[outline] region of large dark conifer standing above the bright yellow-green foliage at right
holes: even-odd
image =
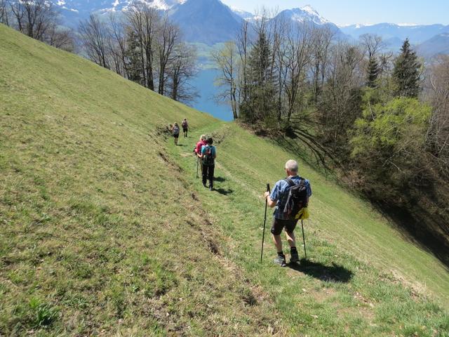
[[[393,71],[398,96],[417,97],[420,93],[420,67],[421,63],[416,52],[410,48],[410,42],[406,39],[401,48],[401,55],[396,59]]]

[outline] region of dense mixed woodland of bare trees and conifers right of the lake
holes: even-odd
[[[394,55],[375,35],[354,44],[260,16],[213,54],[217,98],[382,209],[413,215],[407,229],[449,264],[449,57],[426,69],[408,39]]]

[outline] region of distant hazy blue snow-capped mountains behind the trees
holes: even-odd
[[[231,8],[220,0],[140,0],[148,6],[166,11],[180,26],[186,41],[213,45],[234,39],[243,20],[253,22],[253,13]],[[132,0],[57,0],[63,23],[76,27],[89,13],[126,11]],[[427,58],[438,53],[449,53],[449,25],[376,25],[340,26],[323,18],[311,6],[281,11],[278,17],[291,22],[310,22],[316,27],[329,27],[338,39],[357,40],[363,34],[377,34],[389,50],[398,51],[408,38],[419,53]]]

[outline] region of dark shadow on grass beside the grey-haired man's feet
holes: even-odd
[[[351,270],[335,263],[329,266],[302,259],[299,265],[290,263],[288,267],[326,282],[347,283],[352,278]]]

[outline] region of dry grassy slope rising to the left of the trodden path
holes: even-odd
[[[0,336],[273,324],[166,154],[163,126],[212,119],[2,25],[0,46]]]

